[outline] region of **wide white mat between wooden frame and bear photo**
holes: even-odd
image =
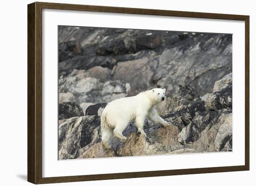
[[[43,177],[244,165],[244,115],[240,115],[244,113],[244,21],[50,9],[43,10],[42,15]],[[58,25],[232,33],[233,152],[58,161],[58,128],[54,125],[58,123]]]

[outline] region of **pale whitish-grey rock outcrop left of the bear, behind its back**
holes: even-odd
[[[102,68],[102,67],[101,67]],[[70,92],[75,103],[109,103],[117,98],[128,96],[133,90],[130,83],[110,80],[102,83],[99,79],[88,77],[87,71],[73,70],[60,74],[59,92]]]

